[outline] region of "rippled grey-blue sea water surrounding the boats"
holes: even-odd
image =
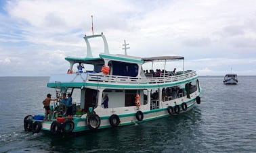
[[[201,104],[187,113],[69,135],[24,131],[44,113],[47,77],[0,77],[0,152],[256,152],[256,76],[199,77]]]

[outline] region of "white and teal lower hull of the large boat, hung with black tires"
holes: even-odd
[[[200,98],[194,98],[188,102],[175,106],[167,106],[164,109],[154,109],[150,111],[142,111],[137,109],[136,113],[129,114],[112,114],[110,116],[99,117],[95,113],[89,113],[82,117],[73,117],[70,119],[60,118],[55,121],[42,121],[35,119],[24,119],[25,131],[33,131],[37,133],[41,130],[51,131],[52,133],[70,133],[78,131],[86,131],[90,129],[103,129],[108,127],[119,127],[124,125],[132,125],[144,121],[150,121],[171,115],[177,115],[189,111],[194,105],[200,103]]]

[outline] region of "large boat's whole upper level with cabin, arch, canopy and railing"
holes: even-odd
[[[89,38],[102,37],[104,41],[104,53],[100,53],[98,57],[92,57],[91,45]],[[87,57],[66,57],[65,59],[70,63],[68,73],[60,75],[52,75],[49,79],[48,87],[56,88],[59,86],[56,82],[60,82],[62,86],[82,88],[83,86],[110,86],[117,84],[120,88],[126,88],[126,86],[137,86],[140,88],[143,86],[158,86],[161,84],[177,84],[180,82],[186,82],[191,79],[197,78],[196,71],[188,70],[180,73],[171,73],[166,71],[165,66],[167,61],[183,60],[184,57],[177,56],[163,56],[163,57],[133,57],[129,55],[112,55],[108,51],[108,44],[103,34],[85,36],[85,42],[87,44]],[[164,62],[164,71],[161,74],[153,72],[146,72],[143,70],[142,65],[144,63],[152,62]],[[93,66],[92,71],[74,71],[76,69],[75,64],[89,64]],[[102,71],[103,67],[108,67],[107,73]],[[83,67],[84,68],[84,67]],[[85,67],[86,68],[86,67]],[[103,73],[102,73],[103,72]]]

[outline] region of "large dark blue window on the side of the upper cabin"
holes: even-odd
[[[112,61],[112,74],[121,76],[136,77],[138,73],[138,65],[135,63],[124,63],[121,61]]]

